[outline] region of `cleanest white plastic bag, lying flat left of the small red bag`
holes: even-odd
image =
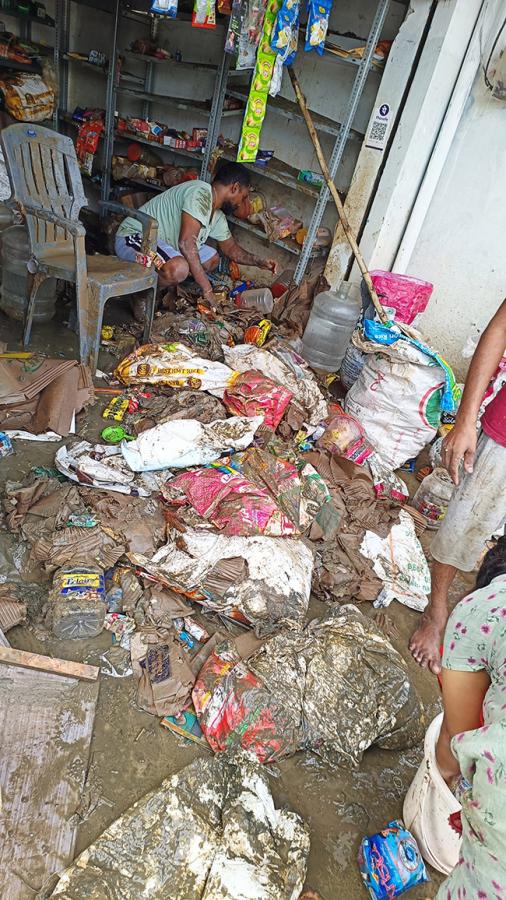
[[[121,453],[133,472],[206,465],[227,451],[249,447],[262,423],[262,416],[235,416],[210,425],[178,419],[143,431],[135,441],[122,441]]]

